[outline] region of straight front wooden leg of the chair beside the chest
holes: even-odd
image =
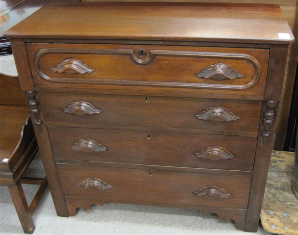
[[[32,234],[35,230],[35,225],[21,183],[9,185],[8,188],[24,232]]]

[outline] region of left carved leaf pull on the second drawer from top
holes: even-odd
[[[62,111],[67,113],[77,114],[77,115],[103,112],[102,110],[99,110],[97,107],[95,107],[93,104],[90,104],[88,102],[81,101],[81,100],[74,101],[68,104],[64,109],[62,109]]]

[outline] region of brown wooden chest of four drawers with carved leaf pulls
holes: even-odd
[[[278,6],[46,6],[6,32],[59,216],[130,203],[256,231],[293,35]]]

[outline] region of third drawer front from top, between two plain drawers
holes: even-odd
[[[48,127],[56,159],[252,170],[255,137]]]

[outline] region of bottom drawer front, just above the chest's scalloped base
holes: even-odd
[[[251,177],[57,164],[64,196],[246,209]]]

